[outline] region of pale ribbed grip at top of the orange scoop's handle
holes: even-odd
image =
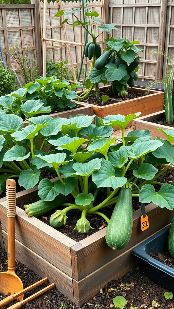
[[[16,215],[16,182],[13,179],[6,181],[7,217]]]

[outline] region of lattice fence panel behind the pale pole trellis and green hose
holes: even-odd
[[[82,15],[82,5],[80,1],[70,1],[70,2],[62,2],[63,9],[66,11],[72,11],[73,8],[79,8],[80,12],[76,13],[77,18],[80,20],[83,20]],[[54,17],[55,14],[60,10],[60,6],[58,2],[47,2],[47,10],[46,10],[46,38],[48,39],[57,39],[57,40],[65,40],[65,34],[63,25],[61,25],[62,18]],[[42,19],[42,26],[43,26],[43,9],[44,4],[43,2],[40,3],[41,6],[41,19]],[[97,11],[99,13],[99,18],[104,19],[103,16],[103,4],[102,1],[90,1],[89,7],[91,11]],[[68,23],[73,23],[76,21],[76,18],[69,14],[65,15],[64,18],[68,18]],[[88,19],[87,19],[88,21]],[[94,27],[94,25],[92,25]],[[84,43],[85,41],[85,33],[84,28],[82,26],[77,26],[75,28],[72,28],[72,26],[69,26],[66,24],[66,31],[68,36],[69,42],[77,42],[77,43]],[[101,31],[96,27],[96,35],[99,35]],[[92,40],[90,36],[88,36],[88,41]],[[101,44],[101,48],[104,48],[103,43],[103,35],[99,35],[97,38],[97,41],[99,44]],[[49,49],[48,49],[49,47]],[[50,48],[52,49],[52,53],[50,51]],[[60,49],[60,50],[59,50]],[[76,72],[79,71],[80,65],[81,65],[81,55],[83,53],[83,47],[78,45],[70,45],[71,50],[71,57],[73,61],[73,65],[75,66]],[[48,56],[49,53],[49,56]],[[58,42],[46,42],[46,59],[51,59],[53,57],[54,63],[59,63],[62,60],[68,60],[69,65],[71,65],[70,62],[70,56],[67,52],[67,47],[64,43],[58,43]],[[84,59],[84,65],[86,63],[86,59]],[[89,62],[89,69],[90,69],[90,63],[91,61],[87,60]]]

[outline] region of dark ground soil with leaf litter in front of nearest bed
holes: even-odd
[[[1,248],[0,256],[0,269],[4,272],[7,270],[7,254]],[[38,275],[33,273],[32,270],[18,261],[16,261],[15,273],[21,278],[24,288],[41,279]],[[40,287],[26,293],[24,299],[36,291],[41,290],[46,285],[48,284],[44,283]],[[130,270],[122,278],[108,282],[95,297],[86,301],[82,307],[74,305],[70,299],[61,294],[56,288],[53,288],[25,304],[22,308],[59,309],[61,303],[63,303],[64,307],[61,308],[67,309],[109,309],[115,308],[113,305],[113,298],[122,296],[127,301],[125,307],[127,309],[153,309],[153,301],[156,307],[159,305],[160,309],[173,309],[174,299],[165,299],[163,295],[165,292],[167,292],[167,289],[148,279],[144,265],[139,265],[137,268]],[[2,297],[4,297],[4,295],[0,294],[0,299],[2,299]],[[4,306],[3,309],[8,308],[15,302],[17,302],[17,300]]]

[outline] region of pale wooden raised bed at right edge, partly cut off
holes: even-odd
[[[152,113],[146,116],[141,116],[137,119],[133,119],[132,121],[132,128],[133,130],[146,130],[148,129],[151,133],[152,139],[155,139],[157,136],[159,138],[163,138],[167,140],[167,137],[159,130],[156,128],[161,128],[163,130],[172,130],[174,131],[174,127],[169,127],[167,125],[159,125],[158,123],[153,123],[151,120],[157,120],[160,119],[165,115],[165,111],[160,111],[156,113]]]

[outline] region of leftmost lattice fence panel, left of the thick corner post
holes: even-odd
[[[17,69],[18,64],[14,57],[6,55],[6,49],[17,46],[19,52],[24,54],[26,47],[32,47],[29,55],[30,61],[36,58],[33,10],[34,5],[16,4],[10,9],[8,5],[0,5],[0,40],[8,67],[12,64]],[[37,66],[37,60],[35,61],[35,66]]]

